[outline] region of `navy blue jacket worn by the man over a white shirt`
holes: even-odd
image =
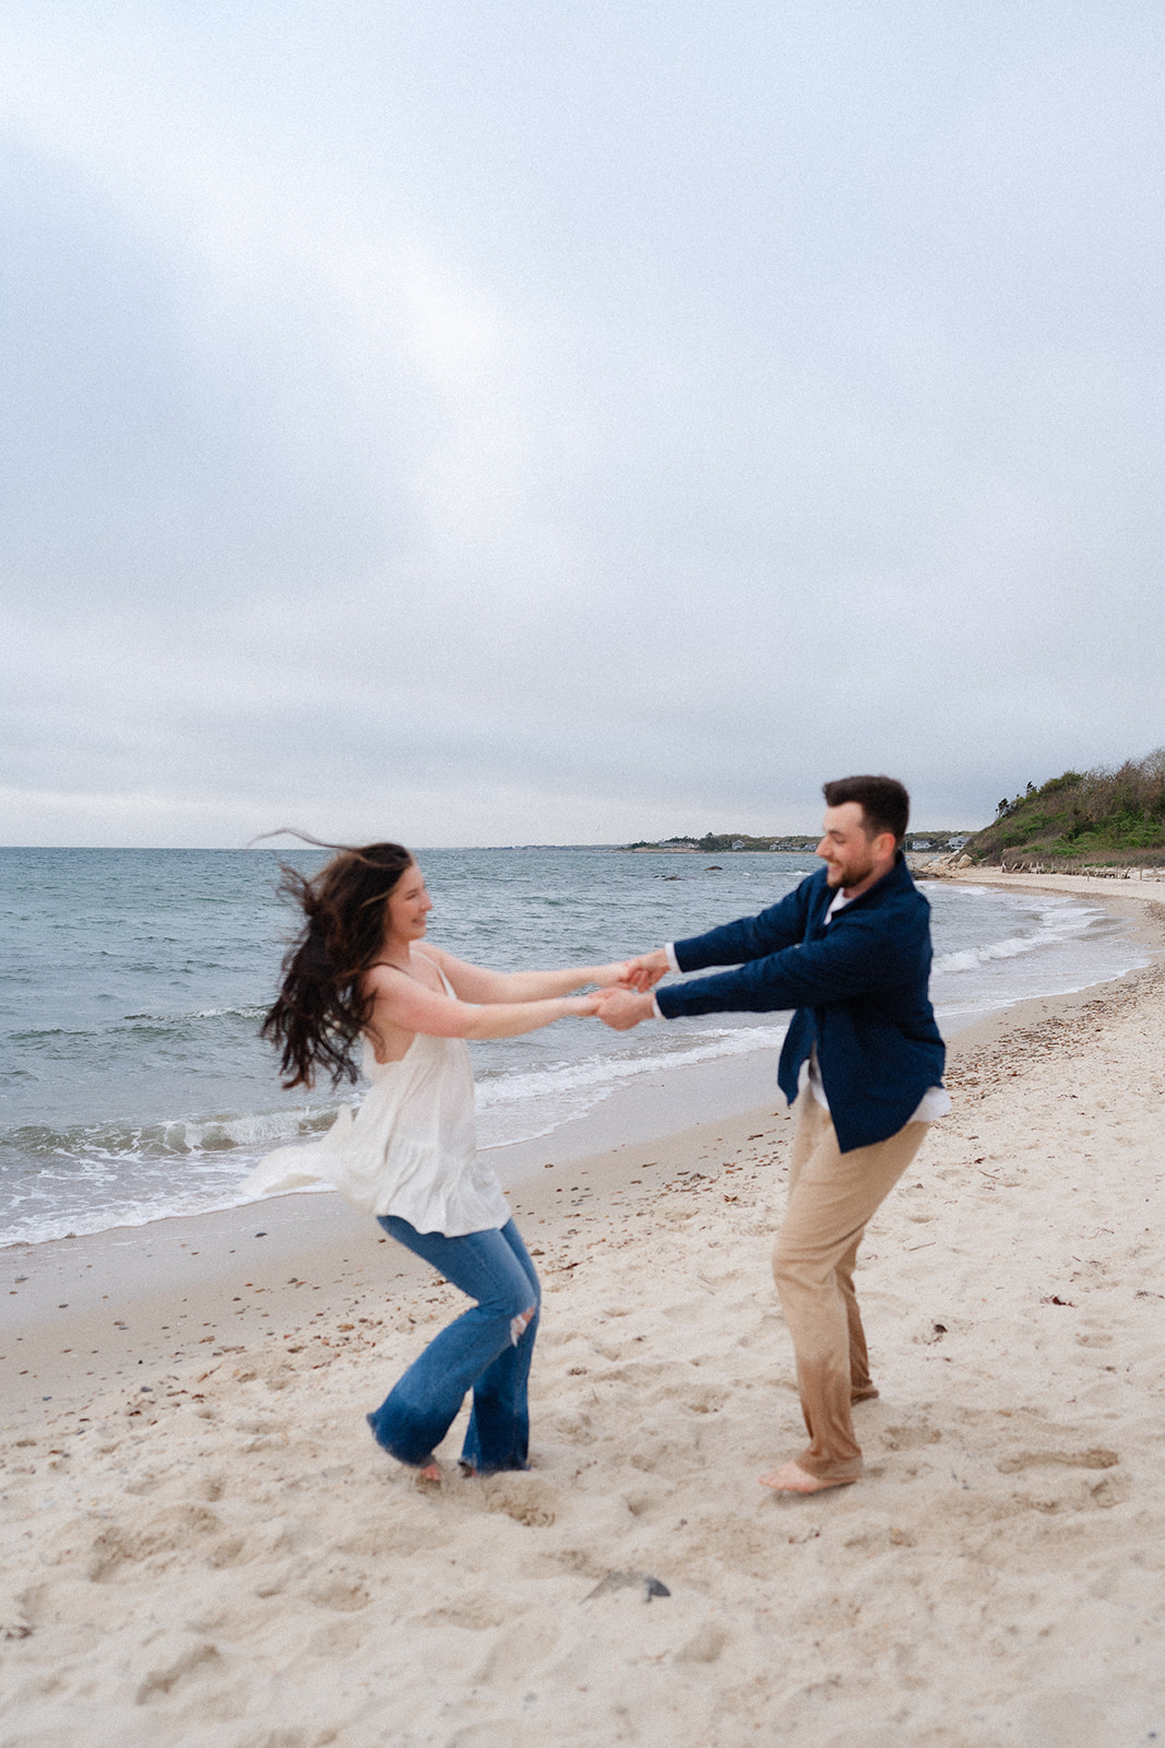
[[[791,1105],[816,1044],[837,1141],[849,1154],[910,1122],[927,1087],[941,1086],[947,1051],[927,995],[931,907],[901,851],[889,874],[826,925],[835,895],[821,867],[760,916],[678,940],[683,972],[739,970],[669,984],[655,998],[667,1019],[796,1009],[781,1091]]]

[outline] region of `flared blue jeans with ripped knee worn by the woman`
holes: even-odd
[[[381,1407],[369,1414],[379,1446],[400,1463],[423,1468],[445,1437],[473,1390],[473,1412],[461,1461],[475,1474],[526,1468],[529,1411],[526,1386],[538,1334],[540,1290],[514,1220],[501,1231],[417,1232],[396,1215],[381,1225],[398,1245],[431,1262],[468,1299],[470,1311],[437,1335],[393,1384]],[[526,1321],[526,1313],[534,1314]]]

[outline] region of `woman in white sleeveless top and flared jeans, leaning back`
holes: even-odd
[[[433,900],[400,844],[341,850],[313,879],[285,869],[304,930],[262,1033],[281,1049],[283,1086],[334,1084],[363,1072],[372,1089],[344,1106],[323,1141],[283,1147],[248,1189],[278,1194],[332,1183],[477,1304],[414,1360],[372,1433],[398,1461],[440,1481],[433,1451],[468,1390],[461,1465],[475,1475],[526,1468],[526,1384],[538,1330],[538,1276],[494,1173],[477,1157],[466,1038],[515,1038],[568,1014],[594,1014],[580,984],[610,984],[624,965],[491,972],[424,940]]]

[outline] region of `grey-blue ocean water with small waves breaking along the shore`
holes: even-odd
[[[259,1024],[295,926],[278,864],[318,851],[0,848],[0,1245],[238,1204],[269,1148],[339,1099],[279,1087]],[[779,853],[419,851],[433,940],[503,970],[594,963],[763,909],[816,860]],[[1148,963],[1081,898],[927,884],[945,1030]],[[611,1033],[562,1021],[473,1045],[482,1147],[552,1136],[615,1087],[741,1052],[784,1016]]]

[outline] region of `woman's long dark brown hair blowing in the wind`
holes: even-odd
[[[307,839],[316,843],[316,839]],[[363,972],[384,946],[384,905],[412,867],[402,844],[339,850],[307,877],[283,865],[279,893],[300,905],[307,921],[283,960],[283,981],[262,1037],[279,1051],[285,1087],[314,1086],[316,1072],[332,1086],[356,1079],[355,1047],[372,1014],[360,993]]]

